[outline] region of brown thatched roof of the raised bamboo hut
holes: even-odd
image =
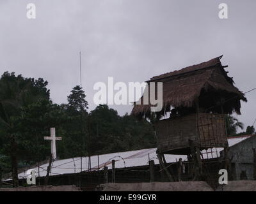
[[[194,107],[198,99],[200,106],[209,108],[218,104],[220,98],[225,99],[223,105],[225,113],[233,111],[240,113],[240,100],[246,101],[244,94],[233,84],[232,78],[227,76],[225,67],[222,66],[220,57],[207,62],[189,66],[178,71],[164,73],[150,78],[149,82],[163,82],[163,109],[161,115],[170,111],[170,106]],[[150,114],[151,105],[135,105],[132,114],[136,116],[147,116]],[[220,107],[218,107],[220,108]],[[217,109],[218,109],[217,108]],[[212,110],[211,110],[212,111]],[[218,112],[218,110],[215,111]]]

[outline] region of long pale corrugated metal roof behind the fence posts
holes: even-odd
[[[250,136],[241,136],[237,138],[229,138],[228,144],[229,147],[232,145],[235,145],[236,143],[239,143],[246,138],[249,138]],[[92,156],[91,157],[91,168],[92,171],[96,171],[98,169],[102,170],[104,166],[108,166],[109,169],[111,169],[111,160],[115,159],[115,166],[116,168],[128,168],[128,167],[134,167],[134,166],[143,166],[148,165],[148,158],[154,159],[155,164],[159,164],[159,161],[157,159],[156,155],[156,148],[152,149],[140,149],[140,150],[134,150],[134,151],[128,151],[128,152],[116,152],[111,154],[102,154],[99,155],[99,166],[98,166],[98,156]],[[216,152],[217,150],[217,152]],[[216,149],[208,149],[207,151],[203,151],[203,157],[204,159],[207,158],[216,158],[220,156],[220,151],[223,150],[223,148],[216,148]],[[184,155],[171,155],[171,154],[165,154],[164,157],[166,158],[167,163],[173,163],[179,160],[179,158],[182,158],[182,161],[187,160],[187,156]],[[81,157],[76,158],[70,158],[70,159],[60,159],[57,161],[54,161],[52,163],[52,169],[50,175],[61,175],[65,173],[79,173],[82,171],[88,171],[88,157],[82,157],[82,163],[81,163]],[[40,177],[45,177],[47,173],[47,166],[48,163],[42,164],[40,166]],[[38,176],[38,168],[36,170],[36,176]],[[19,179],[26,178],[26,171],[19,173]]]

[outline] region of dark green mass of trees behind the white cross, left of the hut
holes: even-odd
[[[147,120],[120,116],[108,105],[88,113],[86,94],[79,85],[67,96],[67,103],[58,105],[52,103],[44,79],[4,72],[0,78],[0,167],[20,168],[45,160],[51,149],[44,136],[50,136],[53,127],[56,136],[62,137],[56,143],[60,159],[156,147]]]

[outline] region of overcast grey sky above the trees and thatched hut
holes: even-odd
[[[36,18],[26,16],[28,3]],[[218,17],[220,3],[228,19]],[[144,82],[150,77],[223,55],[241,91],[256,87],[256,1],[1,0],[0,72],[49,82],[55,103],[66,103],[82,79],[90,110],[93,85]],[[244,124],[256,117],[256,91],[242,103]],[[111,106],[120,115],[131,105]]]

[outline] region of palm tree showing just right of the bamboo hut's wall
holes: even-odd
[[[244,124],[242,122],[239,122],[236,117],[233,117],[231,115],[227,115],[225,117],[226,122],[226,129],[227,129],[227,136],[233,136],[237,134],[237,129],[243,129]]]

